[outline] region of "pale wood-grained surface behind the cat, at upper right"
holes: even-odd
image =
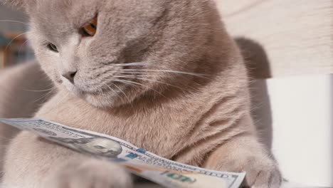
[[[215,1],[231,35],[266,53],[250,54],[260,61],[255,77],[333,73],[332,0]]]

